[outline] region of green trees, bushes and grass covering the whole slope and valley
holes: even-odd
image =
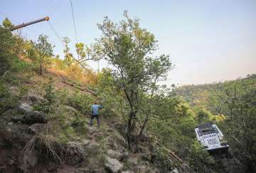
[[[194,128],[206,122],[220,126],[244,172],[256,171],[255,74],[216,84],[160,85],[174,65],[168,55],[154,55],[158,48],[154,34],[141,28],[127,12],[119,23],[104,18],[98,24],[102,37],[90,46],[76,44],[76,59],[70,53],[68,38],[63,39],[62,59],[53,57],[47,35],[39,35],[33,42],[12,34],[10,27],[8,19],[0,26],[0,115],[28,93],[39,92],[42,99],[33,108],[50,120],[47,132],[33,138],[26,152],[44,147],[40,152],[51,150],[46,157],[58,160],[60,144],[87,135],[86,115],[89,117],[91,104],[98,101],[103,104],[105,120],[122,126],[119,132],[126,138],[127,150],[138,152],[142,145],[149,145],[161,172],[180,164],[172,162],[166,150],[175,152],[196,172],[220,171],[215,159],[196,141]],[[112,68],[96,73],[87,67],[87,60],[102,57]],[[73,88],[58,86],[63,80]],[[95,95],[81,88],[92,89]],[[97,142],[106,152],[108,133],[114,130],[103,128]],[[102,155],[98,157],[103,160]],[[130,166],[127,161],[125,167]]]

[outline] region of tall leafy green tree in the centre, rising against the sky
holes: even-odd
[[[148,30],[139,26],[137,19],[131,19],[124,11],[125,19],[119,23],[113,23],[105,17],[98,28],[102,30],[102,37],[97,40],[100,48],[97,55],[104,56],[113,66],[115,85],[124,91],[129,104],[127,115],[127,143],[131,148],[134,138],[134,129],[137,125],[137,114],[141,112],[144,95],[154,98],[159,85],[156,83],[166,79],[167,72],[172,64],[169,56],[153,56],[157,49],[157,41]],[[148,115],[144,117],[141,126],[143,131],[148,122]]]

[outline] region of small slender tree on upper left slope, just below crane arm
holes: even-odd
[[[43,74],[43,68],[49,63],[48,58],[53,56],[53,47],[48,43],[47,35],[39,35],[37,43],[34,44],[34,48],[38,53],[36,57],[36,65],[38,65],[39,74]]]

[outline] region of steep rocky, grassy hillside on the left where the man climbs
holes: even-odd
[[[124,122],[114,110],[103,108],[100,127],[88,125],[96,100],[51,71],[2,76],[1,172],[161,172],[156,144],[127,150]]]

